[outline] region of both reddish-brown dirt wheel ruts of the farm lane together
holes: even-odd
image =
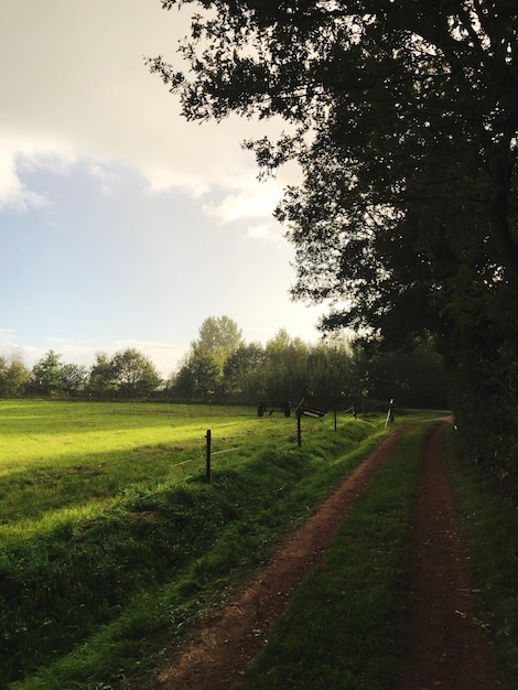
[[[425,452],[413,536],[414,606],[401,688],[490,690],[490,654],[470,602],[466,553],[454,528],[452,496],[442,450],[443,422]],[[321,563],[342,522],[390,455],[400,428],[387,439],[258,572],[249,586],[205,622],[159,675],[162,690],[229,690],[267,643],[268,630],[285,611],[291,593]]]

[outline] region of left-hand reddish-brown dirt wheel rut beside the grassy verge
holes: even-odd
[[[349,510],[390,456],[399,439],[420,422],[386,439],[312,518],[299,528],[247,589],[218,615],[206,621],[171,668],[159,677],[162,690],[228,690],[267,643],[268,630],[288,608],[292,592],[324,559]]]

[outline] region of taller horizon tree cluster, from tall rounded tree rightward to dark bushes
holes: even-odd
[[[412,353],[380,353],[360,342],[332,338],[309,345],[285,330],[265,346],[246,343],[227,316],[209,317],[191,344],[180,370],[168,382],[175,400],[218,400],[256,405],[299,402],[359,405],[387,401],[414,407],[445,406],[445,374],[430,342]]]

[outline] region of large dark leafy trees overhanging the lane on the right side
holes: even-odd
[[[282,118],[277,217],[294,295],[391,349],[431,334],[464,449],[518,486],[515,0],[162,0],[195,6],[186,68],[149,60],[190,120]]]

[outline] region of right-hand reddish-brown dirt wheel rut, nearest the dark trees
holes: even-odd
[[[423,457],[412,535],[407,622],[408,648],[401,660],[401,690],[493,690],[493,655],[473,616],[467,551],[456,528],[447,479],[443,422]]]

